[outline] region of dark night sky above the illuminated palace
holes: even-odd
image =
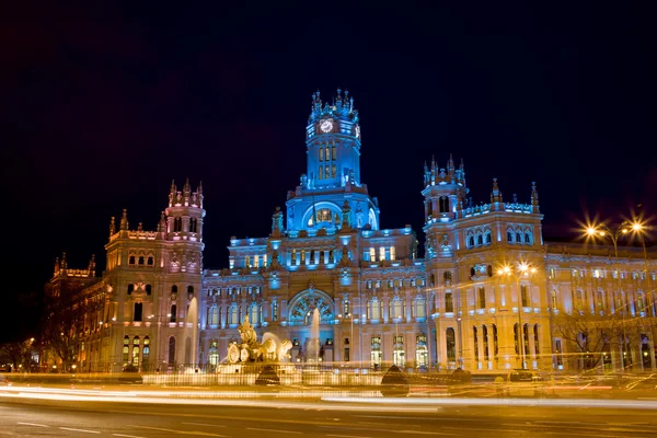
[[[316,90],[354,96],[382,228],[424,241],[423,164],[449,153],[476,204],[493,177],[525,203],[535,181],[546,239],[586,215],[655,211],[649,2],[59,3],[0,24],[3,339],[35,332],[62,252],[71,268],[95,254],[101,275],[112,216],[154,230],[172,180],[203,181],[205,267],[228,266],[231,235],[267,235],[306,172]]]

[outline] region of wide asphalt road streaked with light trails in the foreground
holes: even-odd
[[[314,400],[0,399],[16,437],[656,437],[657,411],[616,406]],[[552,402],[554,403],[554,401]]]

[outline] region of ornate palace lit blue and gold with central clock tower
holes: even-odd
[[[544,242],[533,183],[527,204],[503,199],[496,180],[489,200],[473,204],[463,162],[449,155],[422,175],[419,258],[416,231],[381,227],[360,180],[347,92],[332,104],[313,95],[306,138],[308,168],[285,211],[269,235],[230,239],[229,268],[203,266],[204,195],[188,182],[172,184],[154,231],[129,228],[125,210],[112,220],[102,278],[58,261],[51,289],[67,281],[103,303],[87,312],[80,367],[218,365],[245,318],[258,336],[290,339],[291,360],[303,361],[314,309],[325,362],[494,372],[579,369],[593,356],[608,369],[655,367],[643,247]],[[604,345],[568,332],[569,319],[611,327]]]

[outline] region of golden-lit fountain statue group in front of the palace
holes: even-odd
[[[279,344],[269,337],[264,344],[257,342],[257,334],[249,322],[249,315],[238,327],[242,344],[230,344],[228,346],[228,362],[255,362],[255,361],[285,361],[290,357],[289,350],[292,343],[288,339]]]

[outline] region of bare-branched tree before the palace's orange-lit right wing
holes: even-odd
[[[597,315],[574,311],[560,313],[553,319],[555,335],[565,341],[569,351],[567,356],[579,362],[579,367],[591,370],[600,365],[604,354],[618,346],[623,335],[624,322],[614,314]]]

